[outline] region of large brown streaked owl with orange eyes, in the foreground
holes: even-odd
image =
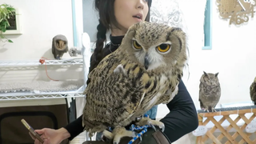
[[[114,143],[134,136],[124,126],[174,98],[186,59],[186,34],[181,29],[150,22],[131,26],[118,50],[89,74],[82,117],[85,130],[90,136],[104,130]],[[148,122],[164,126],[146,117],[137,125]],[[109,127],[114,128],[112,133],[106,130]]]

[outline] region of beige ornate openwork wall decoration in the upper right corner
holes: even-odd
[[[254,0],[217,0],[219,14],[222,18],[230,18],[232,23],[240,25],[254,18]]]

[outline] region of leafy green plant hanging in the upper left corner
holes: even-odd
[[[0,5],[0,40],[2,42],[2,39],[6,39],[7,42],[12,42],[10,39],[6,38],[2,33],[6,32],[6,29],[10,26],[10,23],[8,22],[9,18],[12,18],[15,16],[15,9],[13,6],[2,4]]]

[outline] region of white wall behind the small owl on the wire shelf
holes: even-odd
[[[70,0],[1,0],[18,8],[21,35],[6,35],[14,43],[0,43],[0,59],[53,58],[52,38],[64,34],[73,46],[72,7]],[[66,56],[67,54],[65,54]]]

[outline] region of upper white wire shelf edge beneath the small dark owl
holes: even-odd
[[[42,58],[43,59],[43,58]],[[41,65],[82,65],[82,58],[68,58],[61,60],[46,60],[43,64],[37,60],[21,60],[21,61],[0,61],[0,66],[41,66]]]

